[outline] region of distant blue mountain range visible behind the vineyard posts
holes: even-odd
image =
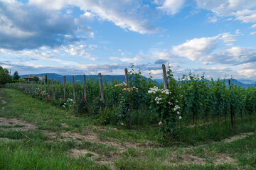
[[[31,75],[31,74],[30,74]],[[33,74],[34,76],[43,76],[46,77],[46,73],[42,73],[42,74]],[[26,77],[28,76],[28,74],[26,75],[21,75],[20,77]],[[66,75],[66,81],[67,82],[72,82],[72,75]],[[86,79],[89,79],[89,77],[92,77],[92,79],[99,79],[98,75],[86,75]],[[63,83],[63,76],[60,74],[55,74],[55,73],[47,73],[47,78],[48,79],[53,79],[58,81],[58,79],[60,78],[60,81]],[[83,82],[83,75],[75,75],[74,76],[75,81],[80,81]],[[103,81],[110,81],[111,79],[116,79],[117,81],[125,81],[125,77],[124,75],[102,75],[102,79]],[[147,79],[146,77],[144,77],[144,79]],[[161,83],[163,82],[163,79],[154,79],[156,80],[157,83]],[[228,86],[228,80],[229,79],[225,79],[225,84],[226,86]],[[232,84],[237,84],[238,86],[242,86],[247,88],[248,86],[254,86],[255,85],[255,81],[253,80],[247,80],[247,79],[231,79],[231,83]]]

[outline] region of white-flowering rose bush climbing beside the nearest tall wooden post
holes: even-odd
[[[171,140],[178,132],[178,123],[182,119],[180,97],[178,86],[172,77],[171,70],[168,71],[169,89],[149,88],[150,95],[149,109],[151,113],[156,113],[159,118],[161,136]]]

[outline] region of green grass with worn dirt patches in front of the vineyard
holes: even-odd
[[[0,89],[0,169],[256,169],[255,120],[183,127],[161,141],[157,126],[100,126],[11,89]],[[216,128],[217,127],[217,128]]]

